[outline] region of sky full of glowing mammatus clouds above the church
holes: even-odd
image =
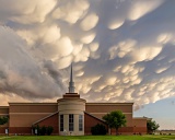
[[[175,129],[174,0],[0,0],[0,105],[135,102]]]

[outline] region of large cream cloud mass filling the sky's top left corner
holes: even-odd
[[[11,2],[1,0],[0,21],[4,24],[7,21],[20,24],[43,23],[56,3],[56,0],[12,0]]]

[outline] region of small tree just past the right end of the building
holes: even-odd
[[[158,130],[159,127],[160,125],[156,124],[155,120],[147,121],[147,130],[149,133],[152,133],[153,131]]]

